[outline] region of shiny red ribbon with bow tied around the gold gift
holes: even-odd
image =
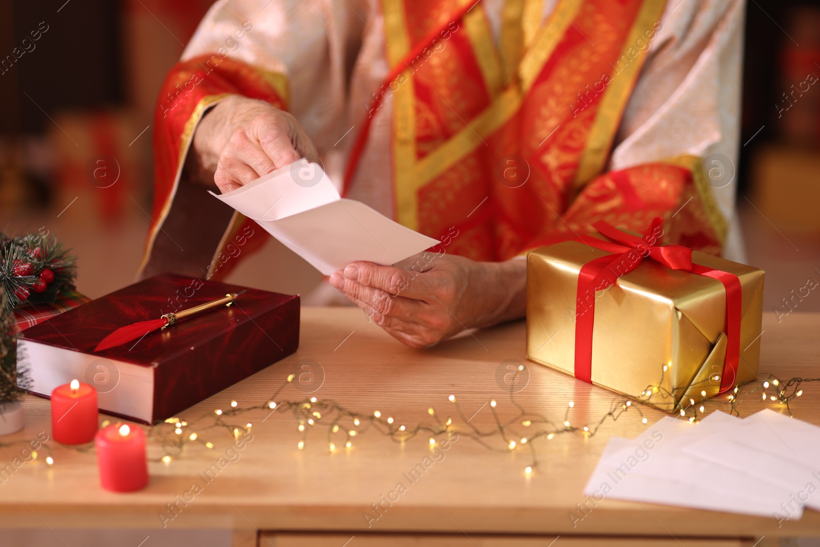
[[[581,267],[578,274],[575,324],[575,377],[592,383],[592,329],[595,315],[595,291],[608,289],[618,277],[634,270],[645,258],[663,264],[672,270],[691,271],[699,276],[720,281],[726,289],[727,335],[726,359],[721,373],[719,393],[731,389],[737,377],[740,361],[740,314],[743,301],[740,280],[727,271],[692,263],[692,249],[682,245],[656,245],[663,235],[663,219],[656,217],[643,237],[626,234],[606,221],[596,222],[594,228],[612,241],[581,236],[581,243],[607,251]]]

